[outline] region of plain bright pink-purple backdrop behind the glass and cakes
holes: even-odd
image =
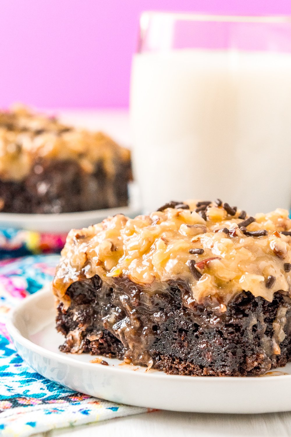
[[[291,1],[1,1],[0,106],[127,107],[142,10],[291,14]]]

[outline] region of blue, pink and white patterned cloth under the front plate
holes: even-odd
[[[56,255],[0,261],[0,436],[25,437],[150,411],[76,393],[42,377],[17,354],[5,328],[7,313],[51,281],[57,262]]]

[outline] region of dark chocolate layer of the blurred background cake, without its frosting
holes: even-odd
[[[48,214],[116,208],[128,204],[130,162],[114,178],[102,163],[94,173],[73,160],[38,160],[23,181],[0,180],[1,212]]]

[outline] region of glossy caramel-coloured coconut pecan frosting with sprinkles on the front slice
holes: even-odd
[[[172,201],[149,215],[72,229],[53,291],[68,306],[68,287],[96,274],[107,284],[126,277],[149,294],[181,281],[191,290],[188,304],[208,300],[223,312],[243,290],[269,302],[277,291],[290,295],[290,270],[288,211],[250,217],[220,199]]]

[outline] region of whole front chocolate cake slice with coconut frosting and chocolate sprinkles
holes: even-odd
[[[178,375],[260,375],[291,359],[291,220],[170,202],[69,232],[53,281],[63,352]]]

